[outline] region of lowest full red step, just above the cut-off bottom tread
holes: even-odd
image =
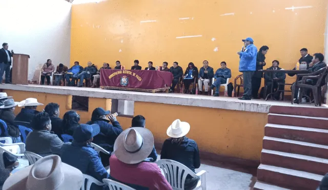
[[[319,186],[323,176],[290,170],[272,165],[260,164],[257,168],[257,180],[283,188],[313,190]]]

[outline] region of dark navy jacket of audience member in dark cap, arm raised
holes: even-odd
[[[93,137],[93,143],[103,147],[106,151],[113,152],[113,146],[116,138],[123,132],[118,121],[114,121],[113,125],[105,120],[88,121],[87,124],[98,124],[100,133]]]

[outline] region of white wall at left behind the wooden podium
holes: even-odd
[[[63,0],[0,0],[0,43],[30,55],[29,80],[51,59],[69,66],[71,4]],[[2,47],[1,47],[2,48]],[[14,76],[13,76],[14,77]]]

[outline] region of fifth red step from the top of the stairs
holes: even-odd
[[[328,171],[327,159],[265,149],[261,152],[261,164],[289,168],[318,175],[325,175]]]

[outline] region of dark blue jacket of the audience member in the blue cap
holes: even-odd
[[[78,168],[83,174],[92,176],[100,182],[103,182],[104,178],[109,178],[99,154],[90,145],[74,141],[71,144],[65,143],[61,146],[60,158],[64,163]]]

